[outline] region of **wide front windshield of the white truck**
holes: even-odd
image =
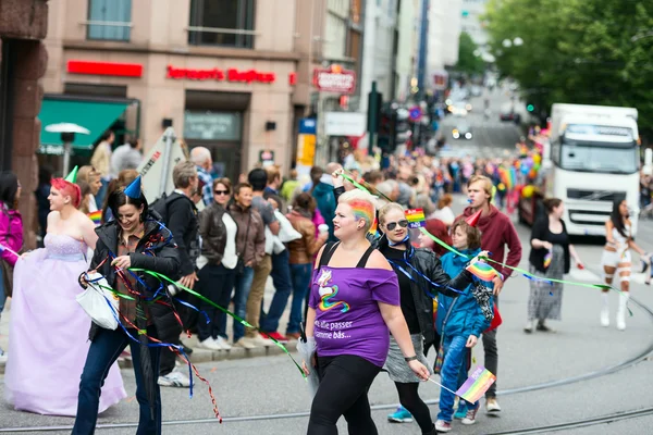
[[[567,171],[632,174],[639,169],[634,144],[564,141],[559,166]]]

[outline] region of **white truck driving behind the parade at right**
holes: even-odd
[[[626,199],[632,234],[639,215],[639,133],[637,109],[553,104],[550,144],[542,160],[542,191],[565,202],[567,232],[578,236],[605,234],[613,202]],[[542,212],[534,198],[532,221]],[[521,204],[520,204],[521,206]]]

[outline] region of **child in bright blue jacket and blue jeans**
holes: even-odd
[[[471,225],[470,225],[471,223]],[[458,221],[452,227],[452,244],[461,253],[473,258],[481,251],[481,232],[472,222]],[[449,276],[456,276],[468,264],[468,259],[448,252],[441,258],[442,268]],[[491,283],[483,283],[491,287]],[[470,285],[470,287],[473,284]],[[439,296],[438,319],[435,327],[442,337],[444,360],[440,376],[442,385],[457,390],[467,380],[467,353],[478,343],[481,334],[490,326],[490,321],[483,315],[471,288],[467,288],[455,298]],[[454,417],[455,395],[445,388],[440,393],[440,413],[435,422],[438,432],[449,432]],[[466,402],[460,399],[460,407]],[[469,403],[463,424],[476,423],[479,403]],[[465,408],[463,408],[465,409]],[[460,413],[460,412],[458,412]]]

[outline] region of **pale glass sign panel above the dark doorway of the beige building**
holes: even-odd
[[[184,138],[200,140],[241,140],[241,113],[184,113]]]

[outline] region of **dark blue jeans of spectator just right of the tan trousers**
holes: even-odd
[[[275,332],[279,328],[279,321],[293,293],[289,261],[291,254],[287,249],[284,249],[281,253],[272,254],[272,272],[270,272],[270,276],[272,276],[272,283],[274,284],[274,297],[272,298],[272,303],[270,303],[268,314],[263,314],[261,308],[260,322],[261,331],[267,333]]]

